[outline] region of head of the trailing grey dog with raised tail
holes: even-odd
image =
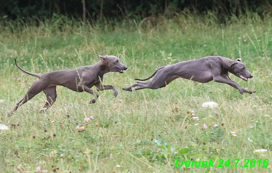
[[[103,63],[106,63],[110,71],[124,73],[123,70],[127,70],[128,67],[121,63],[121,60],[113,55],[97,55],[100,57]]]

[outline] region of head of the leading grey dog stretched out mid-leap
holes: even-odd
[[[247,71],[247,66],[242,63],[240,60],[236,60],[230,63],[229,65],[230,71],[232,74],[236,75],[237,77],[247,81],[248,78],[252,78],[253,75],[249,71]]]

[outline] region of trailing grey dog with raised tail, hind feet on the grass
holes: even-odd
[[[44,108],[49,108],[53,105],[57,98],[56,86],[60,85],[63,87],[67,87],[70,90],[76,92],[87,92],[93,95],[96,95],[98,98],[98,93],[94,92],[90,88],[95,86],[97,87],[98,91],[102,90],[113,90],[113,95],[117,97],[118,91],[115,86],[113,85],[103,85],[103,75],[110,71],[112,72],[119,72],[124,73],[123,70],[126,70],[124,64],[121,63],[121,60],[116,56],[101,56],[101,61],[89,66],[82,66],[74,70],[59,70],[59,71],[52,71],[50,73],[46,73],[43,75],[37,75],[28,71],[25,71],[21,67],[19,67],[16,63],[15,65],[26,74],[36,76],[39,78],[30,89],[25,94],[25,97],[16,104],[15,108],[13,109],[12,113],[18,109],[22,104],[29,101],[33,98],[36,94],[39,94],[43,91],[46,94],[47,102],[44,105]],[[95,103],[96,99],[93,99],[90,103]]]

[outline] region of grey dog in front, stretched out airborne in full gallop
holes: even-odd
[[[188,60],[173,65],[159,67],[153,75],[146,79],[135,80],[148,80],[154,77],[151,81],[140,82],[137,81],[129,87],[123,87],[122,90],[132,91],[150,88],[152,90],[165,87],[167,84],[177,78],[192,79],[200,83],[207,83],[210,81],[218,83],[226,83],[243,93],[255,93],[256,90],[246,90],[239,86],[236,82],[231,80],[228,72],[236,75],[237,77],[247,81],[253,75],[247,71],[247,67],[240,60],[230,60],[222,56],[207,56],[197,60]],[[135,88],[132,88],[135,87]]]

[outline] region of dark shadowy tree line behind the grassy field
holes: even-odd
[[[230,16],[272,13],[272,0],[0,0],[0,20],[17,17],[48,17],[62,14],[85,20],[143,18],[174,13],[205,13]]]

